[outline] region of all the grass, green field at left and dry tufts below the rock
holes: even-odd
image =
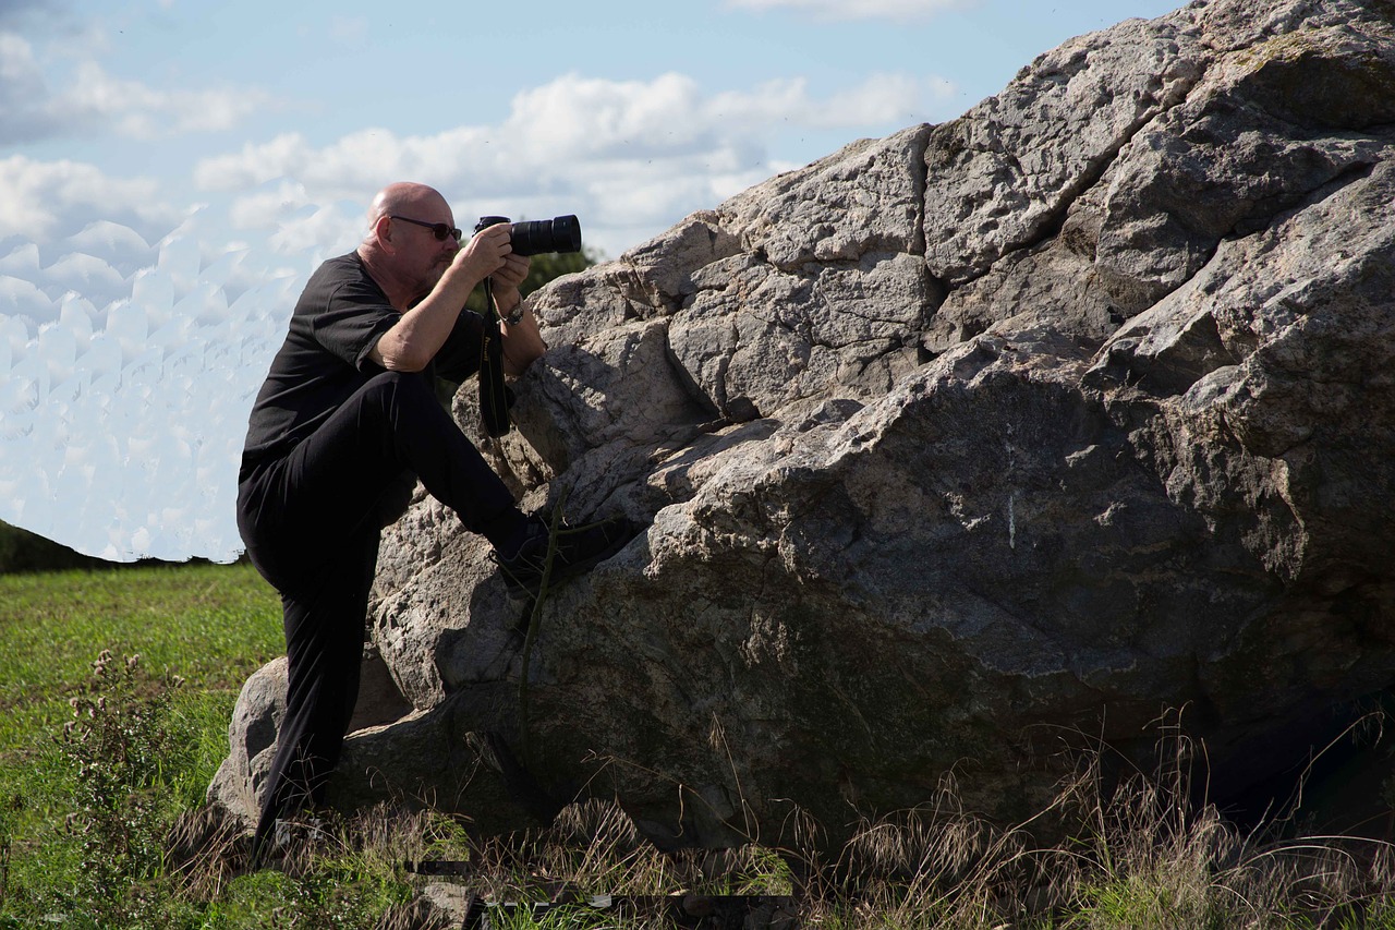
[[[459,926],[432,916],[427,880],[406,869],[446,859],[467,862],[473,892],[499,902],[797,902],[769,926],[1395,930],[1388,845],[1295,838],[1282,824],[1243,832],[1190,803],[1197,753],[1175,722],[1159,729],[1168,751],[1154,771],[1115,785],[1102,755],[1084,753],[1056,802],[1017,825],[965,810],[951,778],[841,850],[661,853],[600,802],[492,839],[385,806],[332,820],[278,869],[248,874],[246,841],[213,829],[201,803],[237,690],[282,652],[279,627],[275,593],[246,566],[0,577],[0,929]],[[671,913],[516,908],[491,922],[672,926]]]

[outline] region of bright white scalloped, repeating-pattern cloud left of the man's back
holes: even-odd
[[[236,257],[201,268],[201,251],[166,237],[106,309],[68,295],[53,323],[0,313],[0,519],[106,559],[236,556],[247,411],[301,281],[264,274],[229,302]],[[0,272],[0,303],[43,300]]]

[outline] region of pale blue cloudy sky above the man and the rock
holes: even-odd
[[[0,521],[230,561],[247,413],[372,194],[617,258],[1182,0],[0,0]]]

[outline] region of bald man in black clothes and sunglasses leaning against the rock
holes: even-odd
[[[462,307],[485,278],[505,371],[543,355],[518,289],[529,260],[512,254],[508,223],[462,247],[449,205],[424,184],[385,187],[368,222],[359,249],[306,285],[252,406],[239,473],[237,525],[280,593],[289,676],[254,862],[278,818],[324,802],[357,700],[378,536],[416,478],[492,543],[509,584],[534,584],[548,552],[547,524],[515,505],[434,385],[480,366],[485,320]],[[610,522],[559,542],[552,578],[608,557],[625,533]]]

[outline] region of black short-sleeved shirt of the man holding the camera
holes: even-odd
[[[243,448],[243,475],[314,433],[354,391],[385,369],[368,353],[400,314],[357,253],[331,258],[306,283],[286,341],[257,395]],[[451,335],[420,374],[463,381],[480,369],[484,318],[462,310]]]

